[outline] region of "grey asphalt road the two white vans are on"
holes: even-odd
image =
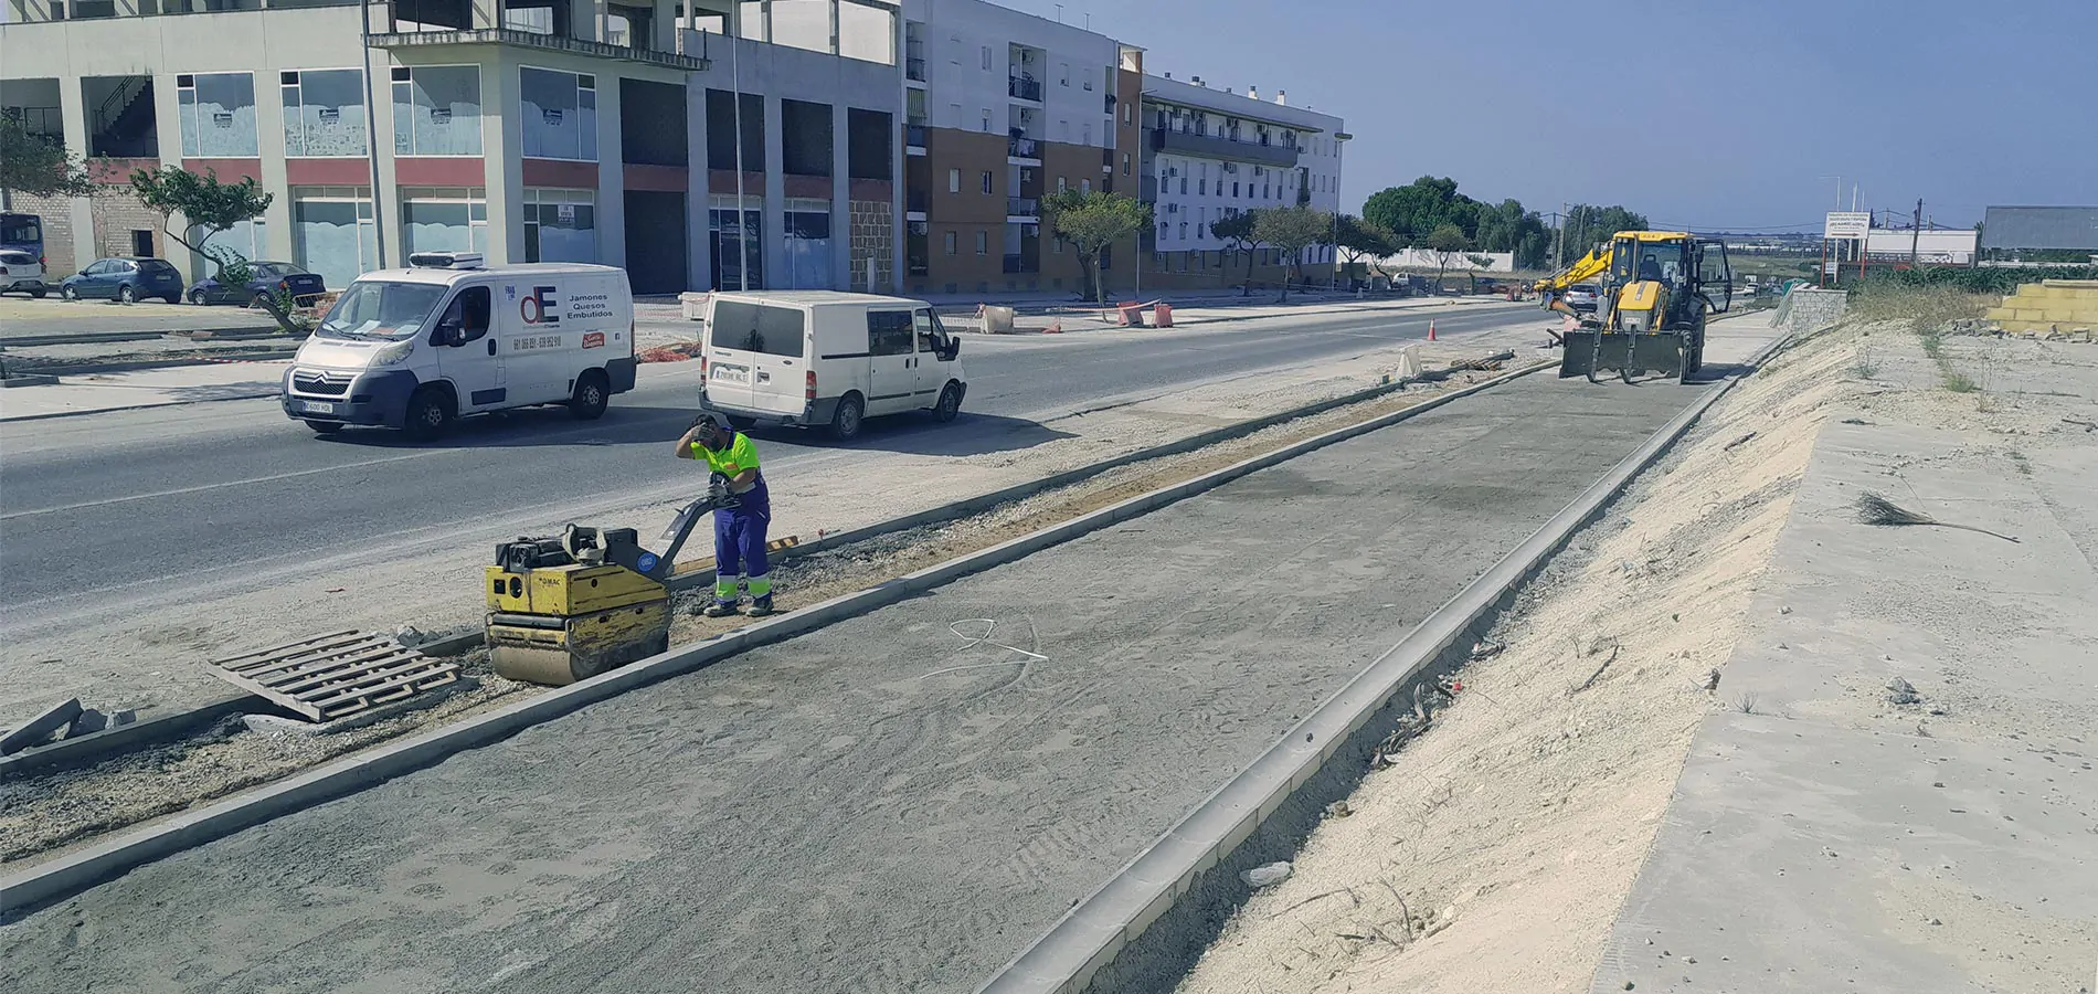
[[[1464,306],[1259,319],[1166,336],[967,338],[963,417],[871,422],[852,447],[759,432],[776,476],[858,451],[978,453],[1030,445],[1036,422],[1190,384],[1341,359],[1536,317]],[[115,619],[170,598],[210,600],[258,577],[296,583],[323,562],[386,556],[407,537],[487,531],[579,495],[690,487],[638,447],[667,445],[694,411],[697,365],[644,367],[600,422],[560,409],[476,417],[430,445],[392,432],[317,438],[277,401],[115,411],[0,428],[0,606],[6,629]],[[176,593],[174,581],[180,581]]]

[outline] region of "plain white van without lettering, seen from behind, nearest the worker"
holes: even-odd
[[[701,407],[734,424],[860,434],[869,415],[952,422],[969,394],[961,342],[923,300],[795,289],[713,294]]]

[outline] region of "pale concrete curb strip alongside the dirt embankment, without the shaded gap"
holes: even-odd
[[[1748,365],[1764,363],[1785,344],[1771,342]],[[1582,491],[1553,520],[1385,650],[1334,696],[1299,721],[1280,742],[1219,786],[1166,835],[1137,853],[1108,883],[1072,906],[1043,937],[1022,950],[978,994],[1080,994],[1143,931],[1200,885],[1284,805],[1318,778],[1328,759],[1347,751],[1368,721],[1412,686],[1460,640],[1492,617],[1508,596],[1653,466],[1704,413],[1743,377],[1729,380],[1662,426],[1632,455]],[[1229,881],[1229,883],[1236,883]]]

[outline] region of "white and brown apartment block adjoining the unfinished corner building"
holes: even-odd
[[[904,0],[902,10],[904,287],[1085,287],[1076,252],[1043,231],[1041,199],[1114,189],[1120,46],[982,0]]]

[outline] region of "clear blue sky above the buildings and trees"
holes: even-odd
[[[1055,17],[1047,0],[997,0]],[[1146,69],[1347,117],[1343,195],[1420,174],[1655,224],[1941,224],[2098,203],[2098,0],[1066,0]]]

